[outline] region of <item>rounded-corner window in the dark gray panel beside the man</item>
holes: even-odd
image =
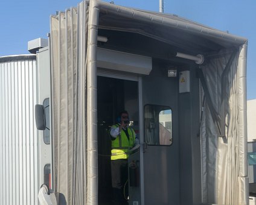
[[[146,105],[144,107],[144,125],[147,144],[171,144],[173,135],[170,107]]]

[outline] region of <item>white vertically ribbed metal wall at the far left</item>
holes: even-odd
[[[0,204],[37,204],[36,55],[0,57]]]

